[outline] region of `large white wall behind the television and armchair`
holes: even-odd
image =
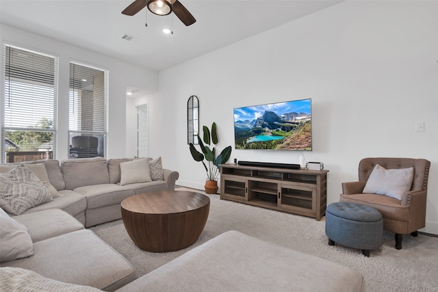
[[[187,145],[188,98],[201,125],[233,145],[233,108],[312,98],[313,151],[330,170],[328,203],[357,181],[363,157],[431,161],[427,233],[438,234],[438,2],[347,1],[159,74],[149,96],[151,157],[203,189],[205,171]],[[415,122],[424,121],[424,132]],[[298,163],[300,152],[234,150],[231,160]]]

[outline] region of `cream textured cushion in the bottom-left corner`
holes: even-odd
[[[52,280],[20,267],[0,268],[0,289],[1,291],[75,291],[75,292],[97,292],[99,289],[69,284]]]

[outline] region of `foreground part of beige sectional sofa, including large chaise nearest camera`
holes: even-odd
[[[233,230],[137,278],[123,256],[62,210],[14,220],[26,226],[33,254],[1,263],[0,291],[365,291],[357,271]]]

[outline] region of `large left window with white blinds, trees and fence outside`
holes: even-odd
[[[2,163],[55,156],[57,63],[55,56],[3,47]]]

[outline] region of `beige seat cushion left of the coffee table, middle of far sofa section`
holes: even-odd
[[[110,204],[120,204],[125,198],[134,195],[132,189],[112,183],[78,187],[74,191],[86,197],[87,209],[99,208]]]

